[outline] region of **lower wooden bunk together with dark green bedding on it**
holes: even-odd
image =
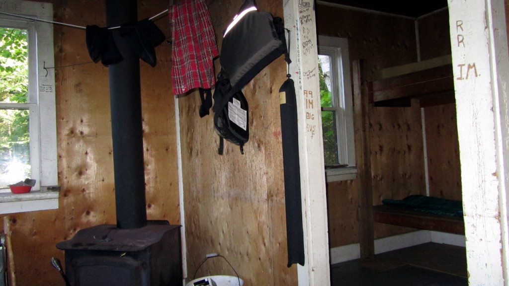
[[[373,221],[463,235],[461,201],[410,195],[401,200],[384,199],[373,207]]]

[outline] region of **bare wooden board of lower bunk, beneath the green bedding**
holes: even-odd
[[[463,217],[411,211],[394,206],[374,206],[373,220],[375,222],[408,226],[423,230],[459,235],[465,234]]]

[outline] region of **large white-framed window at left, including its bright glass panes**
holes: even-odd
[[[47,191],[58,184],[52,5],[6,1],[0,11],[0,213],[58,208]],[[32,191],[11,194],[26,178]]]

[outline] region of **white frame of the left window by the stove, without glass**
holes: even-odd
[[[50,3],[6,2],[2,11],[46,21],[53,19]],[[5,14],[0,14],[0,25],[29,30],[29,103],[0,103],[0,108],[30,110],[32,177],[37,180],[29,193],[0,193],[0,214],[58,209],[55,80],[54,69],[46,68],[54,67],[53,25]]]

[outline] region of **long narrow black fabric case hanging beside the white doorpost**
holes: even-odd
[[[289,42],[290,42],[290,32]],[[289,58],[289,55],[288,55]],[[290,67],[290,61],[287,61]],[[285,174],[285,204],[287,217],[288,267],[304,265],[304,231],[300,188],[299,131],[297,126],[297,95],[295,83],[287,75],[279,89],[281,140]]]

